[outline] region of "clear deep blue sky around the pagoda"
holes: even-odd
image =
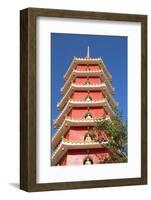
[[[63,76],[74,56],[86,56],[88,46],[90,57],[101,57],[112,74],[114,98],[119,103],[118,110],[122,112],[123,121],[125,121],[127,119],[127,37],[64,33],[51,33],[50,37],[52,121],[59,114],[56,106],[61,99],[60,88],[64,85]],[[56,129],[52,124],[53,135]]]

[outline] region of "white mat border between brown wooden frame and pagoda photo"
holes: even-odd
[[[115,163],[114,167],[113,164],[72,167],[49,165],[51,32],[128,37],[128,163]],[[38,17],[36,37],[38,76],[36,182],[89,181],[92,177],[93,180],[141,177],[141,24]]]

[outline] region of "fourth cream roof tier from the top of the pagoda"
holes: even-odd
[[[106,98],[102,100],[97,101],[75,101],[75,100],[69,100],[68,103],[65,105],[64,109],[61,111],[57,119],[54,121],[54,124],[58,127],[60,124],[62,124],[65,116],[70,112],[70,110],[74,107],[99,107],[103,106],[106,112],[110,115],[111,118],[115,117],[115,112],[111,108],[110,104],[108,103],[108,100]]]

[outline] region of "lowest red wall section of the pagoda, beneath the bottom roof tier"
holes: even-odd
[[[89,151],[89,153],[88,153]],[[100,158],[109,157],[110,152],[107,149],[76,149],[69,150],[62,158],[59,165],[83,165],[83,161],[88,156],[93,160],[93,164],[99,164]]]

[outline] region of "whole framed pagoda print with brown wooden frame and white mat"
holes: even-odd
[[[147,184],[147,16],[20,12],[20,188]]]

